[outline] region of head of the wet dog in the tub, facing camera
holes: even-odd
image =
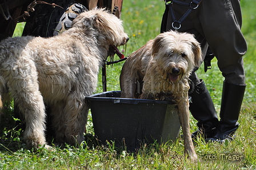
[[[159,34],[154,39],[152,55],[154,62],[163,68],[163,78],[171,82],[189,76],[202,62],[201,47],[194,36],[175,31]]]

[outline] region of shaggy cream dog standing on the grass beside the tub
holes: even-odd
[[[59,143],[84,140],[89,110],[84,98],[97,87],[103,60],[114,55],[110,49],[127,39],[121,20],[94,9],[80,14],[71,29],[57,37],[17,37],[0,43],[0,95],[5,100],[10,92],[18,104],[29,148],[46,144],[45,104],[51,108]]]

